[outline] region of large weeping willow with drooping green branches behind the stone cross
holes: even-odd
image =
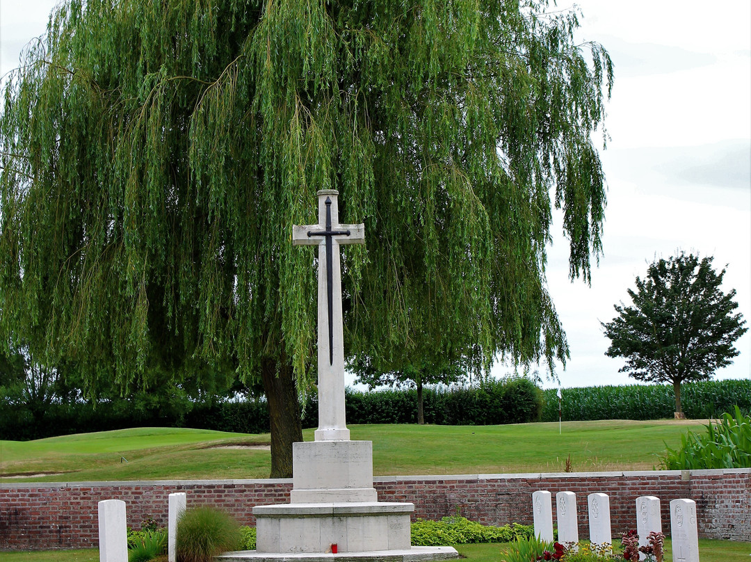
[[[71,0],[5,83],[0,336],[89,385],[230,365],[291,473],[315,383],[315,192],[339,189],[345,341],[384,370],[563,360],[544,284],[599,255],[612,68],[546,0]],[[207,375],[209,376],[209,375]]]

